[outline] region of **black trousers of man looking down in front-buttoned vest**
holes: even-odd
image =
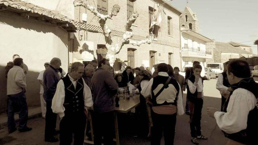
[[[71,145],[74,133],[74,145],[84,144],[86,115],[79,112],[65,115],[60,121],[60,145]]]

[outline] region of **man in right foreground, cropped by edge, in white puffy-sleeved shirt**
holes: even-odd
[[[208,115],[216,119],[225,137],[230,139],[227,145],[258,144],[258,83],[250,78],[249,64],[244,60],[230,62],[227,76],[233,91],[223,112],[207,108]]]

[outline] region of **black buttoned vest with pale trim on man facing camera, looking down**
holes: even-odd
[[[62,78],[65,85],[65,115],[71,115],[84,111],[84,98],[83,98],[83,80],[80,78],[77,81],[76,88],[71,82],[68,75]]]

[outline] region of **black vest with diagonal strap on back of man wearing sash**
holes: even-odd
[[[175,105],[176,106],[177,105],[176,100],[177,100],[177,96],[178,96],[178,93],[179,93],[179,84],[177,83],[177,81],[175,79],[172,79],[172,78],[171,78],[171,80],[169,81],[168,84],[172,84],[176,88],[176,91],[177,91],[174,103],[168,103],[167,101],[165,101],[162,104],[157,104],[157,97],[158,96],[155,97],[153,91],[157,88],[157,86],[159,84],[165,84],[167,79],[168,79],[168,76],[160,76],[160,75],[153,78],[153,84],[152,84],[152,87],[151,87],[153,106],[161,106],[161,105]],[[168,86],[167,86],[167,88],[168,88]]]

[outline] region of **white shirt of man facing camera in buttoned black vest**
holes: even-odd
[[[76,88],[77,81],[74,81],[70,76],[69,78],[72,81],[74,88]],[[83,88],[84,108],[87,109],[93,105],[92,95],[91,95],[91,90],[89,86],[86,85],[83,79],[82,81],[84,85],[84,88]],[[60,118],[65,116],[65,107],[63,106],[64,102],[65,102],[65,85],[63,80],[61,79],[57,83],[57,89],[53,97],[52,106],[51,106],[53,112],[59,114]]]

